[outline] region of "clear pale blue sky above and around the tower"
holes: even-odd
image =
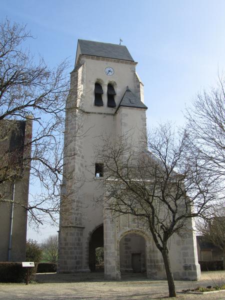
[[[27,24],[35,37],[27,46],[51,66],[65,57],[74,63],[78,38],[121,37],[138,61],[149,127],[182,124],[185,105],[224,70],[224,0],[1,0],[0,7],[0,19]],[[43,235],[29,230],[27,237]]]

